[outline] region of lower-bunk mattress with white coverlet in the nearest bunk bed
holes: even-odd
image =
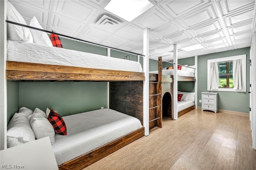
[[[135,117],[111,109],[69,115],[63,119],[67,135],[55,134],[52,145],[58,165],[142,127]]]

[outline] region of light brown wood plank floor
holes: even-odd
[[[249,117],[195,109],[84,170],[255,170]]]

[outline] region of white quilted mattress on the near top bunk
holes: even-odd
[[[143,72],[136,61],[12,40],[7,40],[7,60]]]

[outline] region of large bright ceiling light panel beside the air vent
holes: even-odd
[[[130,22],[152,6],[148,0],[111,0],[104,9]]]

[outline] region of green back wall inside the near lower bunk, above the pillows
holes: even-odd
[[[61,116],[106,108],[106,82],[21,82],[19,107],[55,109]]]

